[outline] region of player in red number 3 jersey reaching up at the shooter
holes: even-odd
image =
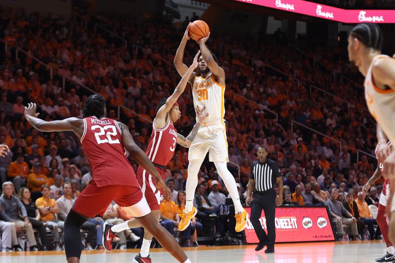
[[[155,116],[152,125],[153,130],[150,141],[148,143],[146,154],[148,155],[152,163],[156,166],[156,169],[158,170],[163,180],[166,166],[169,164],[170,160],[174,156],[176,143],[180,144],[183,147],[189,148],[192,141],[196,137],[200,123],[208,115],[203,114],[204,108],[202,110],[198,108],[196,109],[197,123],[195,124],[194,128],[187,136],[187,138],[178,134],[176,128],[173,125],[173,123],[176,122],[181,116],[181,113],[178,109],[177,100],[184,92],[185,87],[188,83],[188,79],[191,76],[192,72],[197,68],[197,58],[199,56],[199,53],[200,51],[197,52],[194,58],[194,62],[189,67],[185,75],[181,78],[173,94],[169,98],[160,100],[156,109],[157,115]],[[163,192],[157,190],[157,188],[155,187],[155,178],[150,174],[148,170],[146,170],[142,166],[139,166],[137,169],[137,179],[140,186],[142,187],[142,191],[147,199],[152,213],[154,214],[154,217],[159,219],[159,206],[162,199],[161,195],[163,194]],[[108,222],[106,224],[112,225]],[[140,226],[139,222],[132,219],[127,222],[113,226],[111,230],[113,230],[114,232],[121,232],[123,230],[138,226]],[[134,262],[151,262],[149,250],[152,242],[152,237],[153,236],[149,231],[144,231],[144,239],[143,245],[141,246],[141,252],[134,258]],[[106,248],[106,250],[107,249],[111,249],[111,247]]]

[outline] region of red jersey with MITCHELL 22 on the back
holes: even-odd
[[[84,118],[83,123],[81,143],[96,185],[138,186],[136,174],[125,156],[117,121],[92,116]]]

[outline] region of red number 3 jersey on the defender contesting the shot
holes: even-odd
[[[146,154],[156,164],[166,166],[174,156],[177,144],[177,129],[169,120],[162,129],[152,127]]]

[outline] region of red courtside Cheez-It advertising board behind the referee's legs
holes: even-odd
[[[251,215],[251,207],[245,207]],[[267,232],[266,218],[262,211],[262,228]],[[330,217],[326,206],[276,207],[276,242],[334,241]],[[247,243],[258,243],[251,221],[244,229]]]

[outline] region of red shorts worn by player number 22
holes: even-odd
[[[94,180],[79,194],[73,209],[86,217],[102,216],[114,200],[120,207],[129,207],[144,200],[138,186],[109,185],[98,187]],[[137,215],[136,215],[137,216]],[[141,216],[141,214],[140,214]]]

